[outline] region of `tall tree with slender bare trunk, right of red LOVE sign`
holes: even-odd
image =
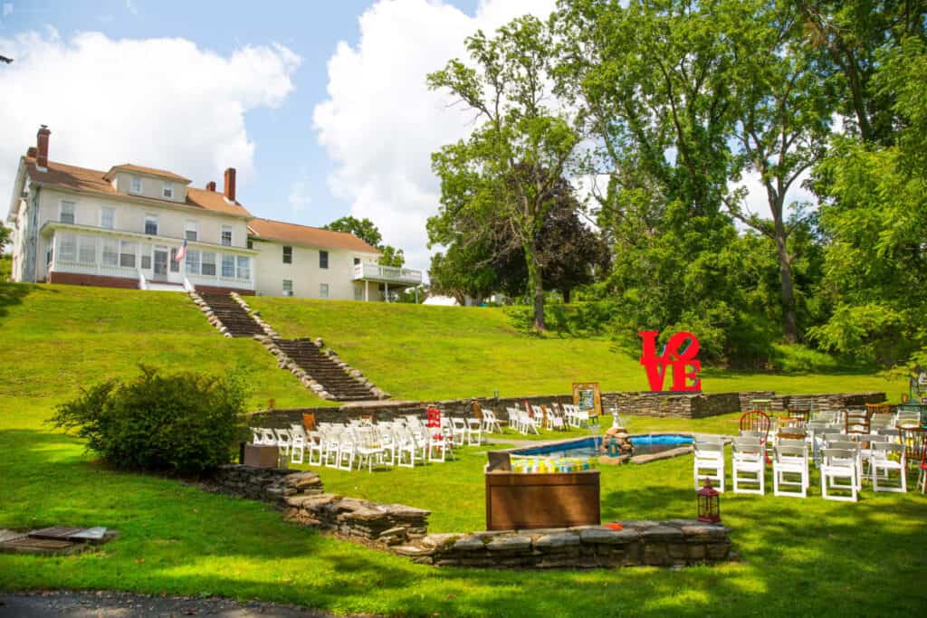
[[[742,3],[742,8],[743,25],[730,32],[738,57],[731,96],[737,119],[733,135],[740,154],[735,160],[740,168],[759,176],[772,219],[744,208],[745,191],[729,195],[727,201],[732,215],[776,246],[782,331],[785,340],[794,343],[799,328],[794,255],[788,250],[793,227],[786,195],[824,153],[832,97],[801,49],[804,22],[792,2],[754,0]]]

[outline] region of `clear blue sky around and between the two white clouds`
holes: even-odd
[[[334,171],[334,162],[319,145],[317,132],[313,130],[313,108],[326,96],[329,80],[326,63],[338,42],[358,44],[359,17],[373,4],[368,0],[287,3],[13,0],[3,3],[6,10],[0,39],[23,32],[47,32],[51,27],[65,41],[79,32],[102,32],[113,40],[182,38],[222,57],[248,45],[285,45],[301,58],[298,69],[289,75],[294,89],[278,107],[259,106],[245,112],[248,140],[256,145],[253,162],[257,173],[250,182],[240,183],[239,199],[261,216],[322,225],[348,214],[350,199],[333,195],[326,183]],[[451,0],[444,4],[456,6],[468,15],[477,8],[476,0]],[[435,68],[438,66],[436,60]],[[52,130],[55,133],[56,126]],[[31,135],[34,131],[35,127],[28,127]],[[56,146],[60,145],[56,139],[66,138],[58,132],[52,139],[52,158],[55,158]],[[28,145],[31,142],[17,145],[17,153]],[[85,164],[81,160],[68,162]],[[3,164],[14,163],[5,158]],[[174,171],[189,173],[182,169]],[[297,179],[310,206],[294,212],[290,197]],[[216,180],[221,183],[221,178]]]

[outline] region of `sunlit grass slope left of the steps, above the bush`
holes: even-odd
[[[48,409],[84,386],[171,370],[237,372],[262,407],[325,405],[250,339],[222,337],[184,294],[0,284],[0,410]]]

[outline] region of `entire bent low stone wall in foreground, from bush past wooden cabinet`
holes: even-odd
[[[316,473],[227,464],[215,473],[211,488],[271,502],[288,522],[319,527],[434,566],[615,568],[698,564],[730,557],[729,530],[694,520],[623,522],[620,531],[586,525],[429,535],[430,511],[325,494]]]

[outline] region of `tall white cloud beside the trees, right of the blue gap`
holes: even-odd
[[[464,38],[493,32],[533,13],[546,18],[554,0],[483,0],[475,16],[438,1],[381,0],[360,18],[361,39],[341,42],[328,61],[328,98],[313,123],[336,170],[332,192],[351,214],[375,221],[384,242],[401,246],[427,268],[425,221],[438,211],[431,153],[473,129],[473,114],[429,92],[427,73],[465,57]]]

